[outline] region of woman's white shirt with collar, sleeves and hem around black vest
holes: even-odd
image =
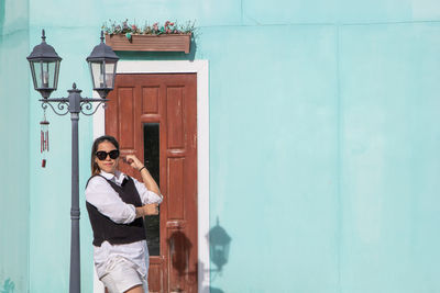
[[[106,179],[121,185],[127,174],[116,171],[114,174],[101,171]],[[136,217],[135,206],[124,203],[118,192],[102,177],[96,176],[88,182],[86,188],[86,201],[98,209],[98,211],[108,216],[118,224],[129,224]],[[144,183],[132,178],[141,198],[142,204],[161,203],[162,195],[146,189]],[[132,261],[139,273],[146,280],[148,272],[148,249],[145,240],[124,244],[111,245],[103,241],[100,247],[94,246],[94,261],[99,279],[107,274],[111,269],[112,262],[123,257]]]

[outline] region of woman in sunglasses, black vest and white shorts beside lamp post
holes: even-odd
[[[94,230],[94,260],[109,293],[148,292],[148,249],[143,217],[157,215],[163,196],[145,166],[134,156],[125,161],[143,183],[118,170],[119,143],[98,137],[91,148],[91,178],[86,205]]]

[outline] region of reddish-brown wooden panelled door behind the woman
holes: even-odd
[[[145,218],[150,292],[197,292],[196,81],[195,74],[118,75],[108,97],[106,133],[122,156],[145,162],[164,194],[160,216]]]

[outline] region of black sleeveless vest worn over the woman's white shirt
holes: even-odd
[[[105,177],[102,178],[106,179]],[[136,187],[134,185],[134,181],[131,177],[128,178],[129,179],[124,181],[121,187],[110,180],[106,180],[114,191],[118,192],[123,202],[133,204],[134,206],[142,206],[141,198],[138,193]],[[99,213],[95,205],[86,202],[86,206],[87,212],[89,213],[91,228],[94,230],[95,246],[101,246],[103,241],[109,241],[112,245],[121,245],[146,239],[142,217],[134,219],[130,224],[117,224],[108,216]]]

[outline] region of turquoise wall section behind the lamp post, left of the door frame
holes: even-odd
[[[96,37],[87,40],[86,35],[90,34],[87,29],[56,30],[48,24],[35,23],[31,16],[32,46],[41,43],[41,27],[46,29],[47,43],[64,58],[58,90],[51,97],[67,97],[67,89],[72,89],[73,82],[76,82],[79,89],[85,89],[84,97],[91,97],[91,82],[85,58],[92,48],[88,44],[94,44]],[[73,31],[76,33],[72,33]],[[43,111],[37,99],[41,99],[41,95],[32,91],[31,97],[30,145],[35,151],[31,153],[30,289],[31,292],[67,292],[70,261],[70,116],[69,114],[57,116],[52,110],[47,111],[47,120],[51,123],[51,149],[47,167],[43,169],[38,150],[38,123],[43,117]],[[82,198],[84,187],[90,174],[91,132],[91,119],[81,115],[79,120],[81,292],[92,292],[94,280],[91,228]]]

